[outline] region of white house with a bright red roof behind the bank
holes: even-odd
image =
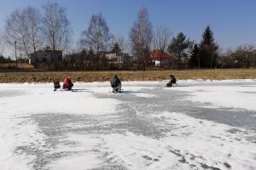
[[[153,52],[151,52],[150,57],[153,60],[154,65],[159,67],[160,67],[160,61],[161,61],[161,67],[165,67],[165,66],[171,67],[174,59],[176,59],[174,55],[160,52],[160,50],[154,50]]]

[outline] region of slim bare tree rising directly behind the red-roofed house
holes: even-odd
[[[164,26],[158,26],[154,36],[154,48],[160,51],[160,68],[162,66],[162,54],[166,53],[171,42],[171,31]]]

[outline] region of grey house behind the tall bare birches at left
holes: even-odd
[[[37,54],[36,61],[38,63],[52,64],[55,61],[62,61],[62,50],[52,50],[49,47],[43,48],[35,52]],[[55,56],[54,56],[55,53]],[[35,62],[35,54],[29,54],[29,64],[33,65]]]

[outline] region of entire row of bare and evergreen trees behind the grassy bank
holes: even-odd
[[[129,46],[123,36],[113,36],[102,14],[92,14],[89,26],[81,32],[78,49],[66,53],[60,63],[56,59],[55,51],[68,49],[72,27],[67,20],[66,9],[58,3],[46,3],[43,9],[43,14],[32,7],[16,9],[9,14],[4,39],[12,46],[15,42],[20,53],[35,60],[38,57],[38,49],[48,46],[52,49],[55,69],[106,69],[113,60],[120,60],[118,58],[122,57],[124,52],[131,54],[133,59],[129,65],[121,65],[121,68],[126,66],[145,69],[152,66],[150,53],[153,50],[160,52],[160,67],[163,66],[163,54],[173,54],[176,57],[177,69],[256,66],[256,49],[253,46],[243,46],[220,54],[210,26],[205,28],[200,42],[190,40],[183,32],[172,37],[170,28],[166,26],[157,26],[154,32],[146,8],[138,12],[137,20],[131,26],[127,41]],[[106,52],[115,53],[116,58],[107,59]],[[37,62],[34,67],[38,67]]]

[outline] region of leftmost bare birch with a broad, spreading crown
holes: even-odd
[[[28,7],[23,10],[16,9],[6,20],[5,39],[10,45],[17,42],[17,48],[20,52],[26,54],[28,58],[32,58],[34,54],[35,67],[37,53],[36,51],[42,44],[39,26],[41,24],[41,16],[38,9]]]

